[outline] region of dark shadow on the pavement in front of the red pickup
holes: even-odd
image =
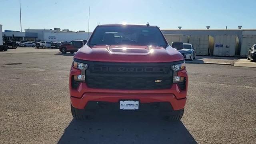
[[[156,115],[100,114],[92,120],[72,120],[58,144],[197,144],[181,121]]]

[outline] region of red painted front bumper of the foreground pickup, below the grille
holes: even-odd
[[[113,90],[89,88],[85,82],[80,82],[77,88],[72,88],[72,76],[81,74],[76,68],[71,68],[69,88],[70,100],[74,108],[84,109],[90,101],[119,102],[120,100],[138,100],[140,103],[169,102],[173,110],[180,110],[186,104],[188,76],[186,70],[178,72],[178,76],[186,77],[186,88],[181,90],[176,83],[170,89],[164,90]]]

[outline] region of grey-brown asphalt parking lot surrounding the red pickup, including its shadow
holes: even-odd
[[[74,54],[56,49],[0,52],[0,143],[255,144],[256,68],[186,64],[188,100],[180,122],[154,114],[70,112]]]

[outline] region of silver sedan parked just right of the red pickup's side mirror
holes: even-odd
[[[192,44],[184,44],[184,48],[179,50],[185,60],[194,60],[196,58],[196,49]]]

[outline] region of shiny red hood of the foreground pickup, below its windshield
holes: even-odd
[[[74,58],[100,62],[174,62],[184,60],[182,54],[168,46],[93,46],[85,45]]]

